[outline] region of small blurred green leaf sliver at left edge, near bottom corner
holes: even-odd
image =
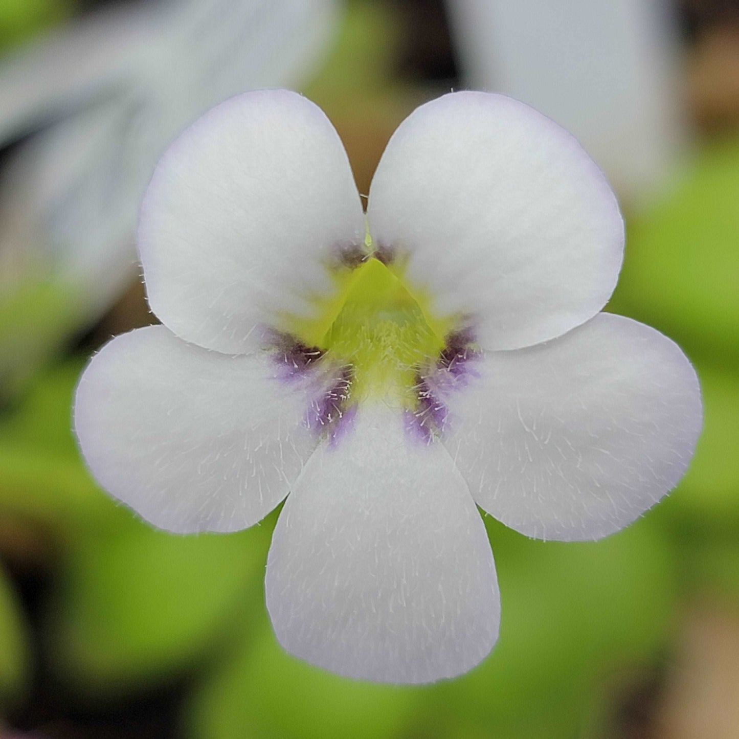
[[[28,645],[20,604],[0,568],[0,705],[16,698],[27,683]]]

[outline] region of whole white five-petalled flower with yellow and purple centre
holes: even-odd
[[[163,326],[78,387],[104,488],[177,532],[235,531],[288,492],[266,599],[291,653],[355,678],[458,675],[497,638],[475,503],[534,537],[597,539],[684,473],[695,372],[599,313],[624,232],[578,143],[500,95],[421,106],[365,217],[323,113],[249,92],[171,146],[138,242]]]

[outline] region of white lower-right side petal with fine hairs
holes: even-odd
[[[429,380],[449,412],[445,443],[478,505],[523,534],[612,534],[687,469],[702,423],[698,378],[644,324],[601,313],[548,344],[470,365],[454,381]]]

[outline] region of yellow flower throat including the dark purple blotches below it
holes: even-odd
[[[346,262],[348,264],[348,260]],[[456,376],[470,340],[454,331],[459,321],[438,319],[430,299],[413,293],[402,265],[359,259],[333,273],[338,291],[311,319],[290,321],[290,342],[280,355],[290,371],[333,367],[336,386],[313,402],[309,423],[333,435],[356,403],[381,398],[402,409],[426,439],[443,427],[443,407],[432,378]],[[353,267],[353,264],[350,265]]]

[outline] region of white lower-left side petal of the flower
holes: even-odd
[[[319,378],[267,355],[186,344],[163,326],[113,339],[75,397],[85,460],[110,494],[169,531],[236,531],[287,494],[316,446]]]

